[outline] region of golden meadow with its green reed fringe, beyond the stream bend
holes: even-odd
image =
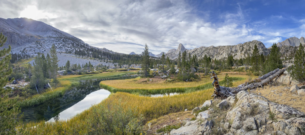
[[[220,85],[224,84],[224,74],[218,75],[218,80]],[[248,78],[244,74],[230,74],[231,80],[241,81]],[[198,90],[213,88],[211,83],[213,82],[208,76],[200,78],[198,81],[159,81],[151,83],[143,83],[139,81],[141,78],[125,79],[125,80],[110,80],[101,81],[100,86],[109,90],[110,92],[128,92],[132,94],[139,95],[150,95],[150,94],[164,94],[164,93],[185,93],[185,92],[195,92]],[[148,81],[149,82],[149,81]]]

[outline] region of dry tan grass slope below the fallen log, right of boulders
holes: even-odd
[[[264,96],[268,100],[278,103],[285,104],[296,108],[299,111],[305,112],[305,97],[298,95],[298,93],[290,92],[290,87],[287,86],[265,86],[264,89],[257,88],[254,93],[261,93],[261,96]],[[293,95],[294,94],[294,95]]]

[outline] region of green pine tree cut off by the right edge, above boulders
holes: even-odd
[[[299,50],[296,51],[294,64],[288,67],[287,71],[294,80],[305,82],[305,52],[301,43]]]

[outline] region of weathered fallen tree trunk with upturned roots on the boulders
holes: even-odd
[[[246,82],[242,85],[239,85],[239,86],[233,87],[233,88],[220,86],[216,73],[214,71],[212,71],[211,79],[214,78],[214,81],[212,83],[212,85],[214,86],[214,93],[211,96],[225,98],[230,95],[236,95],[238,92],[243,91],[243,90],[263,87],[264,85],[266,85],[267,83],[272,81],[274,78],[283,74],[284,71],[286,71],[286,68],[281,69],[281,70],[275,69],[274,71],[271,71],[261,77],[258,77],[252,81]]]

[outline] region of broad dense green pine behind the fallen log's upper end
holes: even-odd
[[[283,63],[281,60],[280,49],[276,46],[276,43],[273,43],[269,57],[267,59],[266,72],[273,71],[277,68],[283,68]]]

